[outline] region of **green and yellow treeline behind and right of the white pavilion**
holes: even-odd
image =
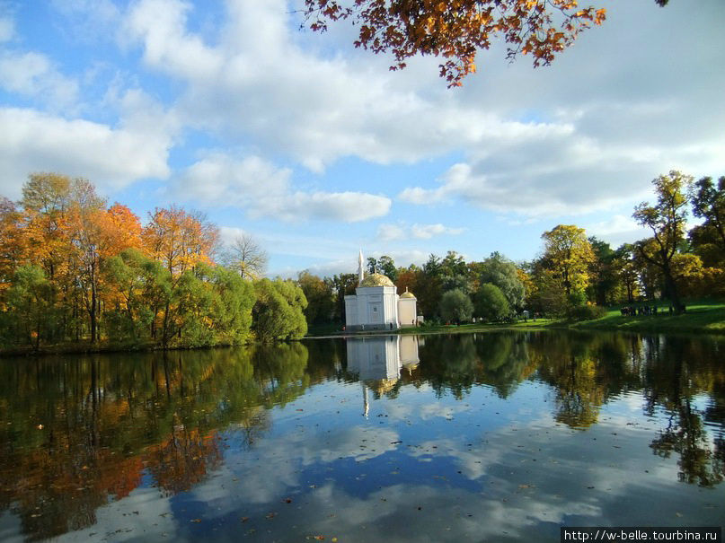
[[[725,176],[717,181],[670,171],[652,181],[657,202],[635,207],[633,217],[651,237],[614,249],[573,224],[542,234],[542,254],[514,263],[498,252],[466,262],[455,251],[430,255],[422,267],[396,267],[388,256],[367,259],[368,272],[393,280],[418,299],[427,320],[506,320],[527,310],[574,320],[596,318],[615,304],[667,301],[684,311],[684,298],[725,296]],[[702,223],[685,229],[692,210]],[[344,321],[344,296],[355,293],[355,274],[298,277],[309,323]]]

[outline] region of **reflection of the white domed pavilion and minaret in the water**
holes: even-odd
[[[357,373],[362,383],[365,416],[368,388],[378,394],[392,390],[402,368],[410,372],[420,363],[418,346],[418,336],[348,338],[348,372]]]

